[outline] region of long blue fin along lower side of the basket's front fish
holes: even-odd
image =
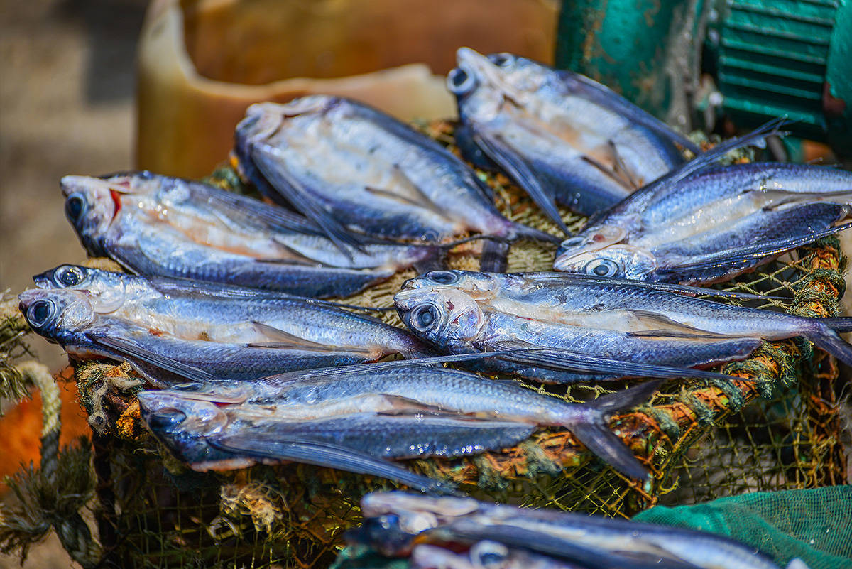
[[[313,440],[264,437],[262,434],[256,433],[220,435],[210,437],[207,442],[222,451],[250,457],[292,461],[325,468],[336,468],[355,474],[378,476],[429,494],[456,493],[451,483],[432,480],[382,458],[373,457],[343,446],[329,445]]]

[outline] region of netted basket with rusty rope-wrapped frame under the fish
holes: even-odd
[[[421,126],[452,145],[452,125]],[[556,233],[503,176],[480,175],[506,216]],[[227,167],[210,181],[245,189]],[[562,213],[572,229],[584,221]],[[448,257],[450,267],[478,268],[480,248],[475,242],[459,245]],[[554,250],[533,242],[513,244],[509,271],[549,270]],[[774,296],[748,301],[749,306],[834,316],[844,263],[837,239],[822,239],[720,288]],[[392,306],[394,293],[412,276],[413,271],[397,274],[343,301]],[[401,325],[394,311],[382,318]],[[648,404],[613,417],[613,431],[652,471],[648,483],[625,479],[560,428],[540,429],[499,452],[404,464],[452,480],[481,499],[625,517],[657,504],[844,483],[848,380],[839,376],[834,359],[792,339],[766,343],[750,359],[722,371],[755,381],[665,382]],[[72,381],[95,431],[97,535],[103,560],[116,566],[328,566],[343,532],[360,521],[360,497],[394,487],[299,464],[196,473],[141,428],[135,399],[141,382],[128,365],[81,363]],[[527,387],[580,402],[628,384]]]

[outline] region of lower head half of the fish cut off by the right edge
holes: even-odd
[[[613,244],[578,254],[563,252],[553,262],[556,271],[584,273],[593,277],[647,279],[657,269],[657,257],[642,247]]]

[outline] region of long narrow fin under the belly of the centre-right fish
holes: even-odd
[[[529,346],[531,344],[520,341],[501,342],[496,344],[494,348],[498,348],[498,350],[512,350],[513,348],[521,348],[524,345]],[[507,353],[499,356],[499,359],[517,364],[538,365],[556,371],[584,371],[611,375],[613,377],[661,377],[665,379],[698,377],[702,379],[733,379],[742,381],[740,377],[727,376],[715,371],[619,361],[617,359],[590,356],[585,353],[570,352],[558,348],[537,351],[530,354],[519,352]]]

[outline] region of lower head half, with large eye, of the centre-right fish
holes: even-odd
[[[450,287],[400,290],[394,303],[409,330],[441,348],[469,344],[486,324],[476,301]]]

